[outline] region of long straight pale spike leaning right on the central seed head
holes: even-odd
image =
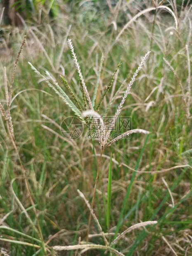
[[[121,103],[119,104],[119,107],[118,107],[118,109],[117,109],[117,111],[116,111],[116,113],[115,113],[115,116],[114,116],[114,118],[113,118],[113,121],[111,122],[111,125],[110,125],[110,127],[109,127],[109,130],[107,131],[107,134],[106,134],[106,136],[105,136],[104,145],[107,143],[107,139],[108,139],[108,137],[109,137],[109,135],[110,135],[110,133],[111,133],[111,130],[114,128],[116,119],[117,119],[117,117],[119,116],[119,114],[120,114],[120,112],[121,112],[121,108],[123,107],[123,104],[124,104],[124,102],[125,102],[125,100],[126,100],[126,97],[128,96],[128,93],[129,93],[129,91],[130,91],[130,88],[131,88],[131,86],[133,85],[133,82],[135,81],[135,78],[136,78],[136,76],[138,75],[140,69],[142,69],[142,65],[144,64],[145,60],[146,60],[147,57],[149,56],[149,53],[150,53],[150,52],[147,52],[147,53],[145,54],[145,56],[142,58],[142,61],[141,61],[140,65],[138,66],[138,68],[137,68],[137,70],[135,71],[133,77],[131,78],[131,81],[130,81],[129,84],[128,84],[128,87],[127,87],[127,89],[126,89],[126,92],[125,92],[125,94],[124,94],[124,96],[123,96],[123,98],[122,98],[122,100],[121,100]]]

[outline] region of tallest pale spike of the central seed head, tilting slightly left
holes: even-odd
[[[71,39],[68,39],[67,40],[67,43],[69,45],[69,48],[71,49],[71,53],[72,53],[72,56],[73,56],[73,60],[75,62],[75,65],[76,65],[76,69],[78,71],[78,74],[79,74],[79,78],[81,80],[81,83],[83,85],[83,89],[85,91],[85,94],[86,94],[86,97],[87,97],[87,100],[88,100],[88,103],[89,103],[89,107],[91,110],[94,111],[93,107],[92,107],[92,102],[91,102],[91,99],[90,99],[90,96],[89,96],[89,93],[88,93],[88,90],[87,90],[87,86],[85,85],[85,82],[84,82],[84,79],[83,79],[83,76],[82,76],[82,73],[81,73],[81,69],[80,69],[80,66],[78,64],[78,61],[77,61],[77,57],[76,57],[76,54],[74,52],[74,48],[73,48],[73,45],[72,45],[72,42],[71,42]]]

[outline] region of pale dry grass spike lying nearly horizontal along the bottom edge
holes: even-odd
[[[117,251],[116,249],[109,246],[101,245],[101,244],[76,244],[76,245],[68,245],[68,246],[57,245],[57,246],[54,246],[53,249],[56,251],[69,251],[69,250],[78,250],[78,249],[81,249],[81,250],[82,249],[104,249],[106,251],[109,250],[118,256],[125,256],[124,254]]]

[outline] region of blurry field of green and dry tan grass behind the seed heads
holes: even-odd
[[[141,57],[148,50],[151,50],[149,61],[140,71],[132,90],[159,65],[163,57],[178,46],[167,60],[175,69],[187,93],[188,67],[185,44],[190,30],[188,18],[191,20],[191,13],[187,14],[187,9],[180,12],[178,7],[178,15],[180,16],[180,13],[183,15],[181,20],[185,19],[185,15],[188,18],[185,20],[185,26],[179,21],[178,32],[175,32],[173,17],[158,10],[152,45],[154,13],[143,15],[130,24],[120,40],[111,47],[118,33],[130,19],[130,15],[133,17],[139,10],[149,7],[144,1],[142,4],[140,1],[124,3],[126,5],[118,7],[114,15],[110,13],[107,4],[102,4],[100,1],[92,2],[92,5],[91,2],[85,2],[78,7],[79,9],[75,8],[74,3],[63,5],[59,2],[60,12],[57,17],[49,20],[50,27],[43,21],[41,24],[31,24],[26,21],[26,29],[3,27],[3,36],[12,52],[6,57],[3,55],[0,57],[2,105],[6,108],[3,67],[6,66],[9,85],[17,56],[17,51],[12,45],[19,48],[25,33],[27,43],[24,46],[24,56],[43,73],[45,69],[52,73],[59,86],[73,101],[64,88],[60,75],[66,78],[82,106],[84,103],[78,83],[78,73],[67,43],[61,53],[62,59],[59,65],[57,63],[66,36],[73,41],[85,83],[91,99],[94,98],[95,106],[100,101],[119,59],[122,58],[122,65],[119,68],[114,93],[127,76],[127,83],[130,81]],[[167,1],[164,5],[172,9]],[[116,22],[117,31],[111,24],[112,21]],[[72,24],[71,30],[67,32],[70,24]],[[166,31],[169,27],[173,29]],[[45,51],[37,43],[31,31],[45,48],[50,60],[47,59]],[[169,33],[170,31],[173,31],[173,35]],[[12,35],[8,37],[9,32],[12,32]],[[191,38],[188,41],[188,48],[191,60]],[[104,61],[101,65],[102,53]],[[98,141],[86,138],[86,127],[83,135],[75,141],[62,137],[59,126],[65,117],[73,116],[73,112],[44,81],[39,79],[31,70],[27,60],[21,56],[14,78],[13,95],[21,90],[25,91],[13,100],[11,115],[17,149],[26,170],[30,190],[40,184],[33,191],[32,198],[44,242],[50,239],[48,246],[51,252],[47,254],[59,255],[53,252],[53,246],[78,244],[79,237],[81,241],[86,239],[89,211],[79,198],[77,189],[91,202],[100,146]],[[122,88],[120,96],[123,95],[127,83]],[[97,97],[93,96],[96,84]],[[155,87],[156,89],[145,102]],[[101,115],[107,109],[112,88],[113,85],[100,107]],[[120,100],[121,97],[113,103],[108,116],[114,116]],[[146,111],[149,102],[154,104]],[[190,112],[192,113],[191,107]],[[124,255],[172,255],[170,248],[162,239],[164,236],[178,255],[185,255],[185,252],[191,255],[192,169],[189,166],[192,164],[192,119],[186,118],[180,86],[173,72],[164,62],[128,96],[121,116],[131,116],[133,129],[151,130],[151,134],[133,134],[130,140],[119,140],[113,144],[114,147],[104,149],[94,206],[103,231],[115,234],[110,235],[109,241],[111,241],[118,232],[131,225],[141,221],[157,220],[157,225],[128,233],[126,239],[119,240],[114,248]],[[61,163],[65,157],[66,159]],[[55,168],[58,164],[60,165]],[[186,166],[161,173],[161,170],[180,165]],[[163,177],[168,183],[178,211],[169,206],[166,199],[140,173],[130,168],[146,171],[144,175],[147,179],[171,200],[162,181]],[[27,189],[18,156],[9,139],[6,122],[1,117],[0,170],[0,218],[9,213],[0,226],[0,247],[9,255],[45,255],[39,234],[27,217],[28,214],[37,228],[36,216],[29,198],[22,202],[26,212],[21,209],[21,205],[14,210],[18,200],[22,201],[27,196]],[[159,171],[159,173],[147,173],[147,171]],[[12,210],[14,211],[11,212]],[[99,230],[92,221],[90,233],[97,232]],[[90,242],[104,245],[102,237],[91,237]],[[41,248],[27,246],[26,243],[36,244]],[[76,254],[75,251],[71,251],[63,255]],[[88,251],[87,255],[104,255],[104,251],[92,250]]]

